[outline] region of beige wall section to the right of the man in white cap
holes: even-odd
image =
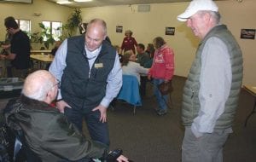
[[[256,85],[256,40],[240,38],[241,28],[256,29],[256,1],[244,0],[236,3],[235,0],[230,0],[219,3],[220,12],[224,14],[223,22],[229,26],[243,52],[243,84]]]

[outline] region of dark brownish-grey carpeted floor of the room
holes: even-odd
[[[185,78],[173,78],[173,107],[164,116],[154,112],[157,107],[152,87],[148,84],[148,95],[143,99],[143,107],[132,113],[132,106],[118,102],[113,109],[108,108],[108,124],[111,146],[122,148],[124,154],[135,162],[179,162],[183,126],[180,121],[182,91]],[[4,107],[7,99],[0,100]],[[224,147],[224,162],[256,161],[256,114],[244,127],[247,115],[253,109],[253,97],[241,90],[239,107],[234,123],[234,133]],[[84,130],[88,136],[86,129]]]

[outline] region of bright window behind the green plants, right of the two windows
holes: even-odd
[[[58,21],[43,21],[47,34],[51,34],[55,41],[60,40],[62,23]],[[47,38],[44,38],[44,41]]]

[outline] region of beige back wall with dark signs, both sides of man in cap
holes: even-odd
[[[237,3],[235,0],[218,1],[219,12],[223,16],[222,22],[235,35],[244,55],[244,84],[256,84],[256,43],[255,40],[240,39],[241,28],[256,29],[256,2],[246,0]],[[199,40],[194,37],[190,29],[177,21],[177,14],[181,14],[189,3],[160,3],[151,4],[147,13],[137,12],[137,5],[108,6],[82,9],[84,22],[93,18],[102,18],[108,23],[108,35],[113,44],[120,45],[124,32],[131,29],[138,43],[151,43],[153,38],[161,36],[175,51],[175,74],[187,76]],[[123,33],[115,32],[116,26],[123,26]],[[175,36],[166,36],[166,26],[175,27]]]

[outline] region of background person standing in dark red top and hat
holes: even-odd
[[[132,32],[130,30],[125,31],[125,38],[121,45],[121,49],[122,51],[124,50],[124,52],[126,50],[132,50],[133,53],[135,54],[135,47],[137,46],[137,41],[135,40],[135,38],[131,36],[132,36]]]

